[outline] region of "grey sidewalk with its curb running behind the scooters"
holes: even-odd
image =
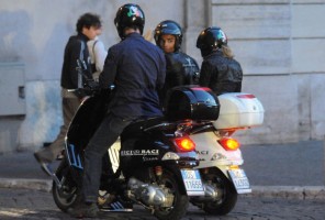
[[[325,198],[324,148],[323,141],[243,145],[251,196]],[[51,190],[52,180],[33,152],[5,153],[0,154],[1,187]]]

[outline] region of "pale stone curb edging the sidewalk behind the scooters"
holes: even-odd
[[[52,190],[51,179],[0,178],[0,188],[20,188],[42,191]],[[325,199],[325,186],[251,186],[251,194],[239,197],[282,199]]]

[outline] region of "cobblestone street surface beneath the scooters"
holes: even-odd
[[[27,189],[0,188],[0,219],[70,219],[55,206],[52,194]],[[101,213],[98,219],[154,220],[142,207],[132,213]],[[324,220],[325,200],[239,197],[225,217],[208,216],[191,206],[183,220]]]

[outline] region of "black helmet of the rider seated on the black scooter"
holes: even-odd
[[[125,28],[138,28],[141,34],[143,34],[145,26],[145,13],[139,8],[139,6],[126,3],[117,10],[114,24],[121,38],[125,37]]]

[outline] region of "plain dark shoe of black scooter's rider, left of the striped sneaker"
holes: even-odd
[[[75,208],[68,209],[68,213],[72,218],[96,218],[99,213],[99,208],[96,204],[79,204]]]

